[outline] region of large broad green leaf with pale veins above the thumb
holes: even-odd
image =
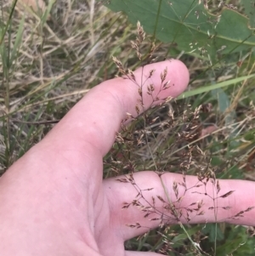
[[[111,0],[106,6],[124,12],[133,23],[139,20],[144,31],[161,42],[171,43],[169,50],[178,47],[186,53],[206,56],[213,63],[223,54],[255,46],[255,35],[244,15],[226,7],[220,14],[210,14],[207,1],[201,2]]]

